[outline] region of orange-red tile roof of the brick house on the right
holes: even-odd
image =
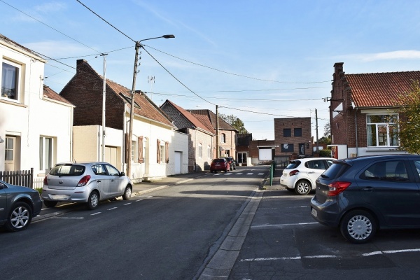
[[[345,74],[357,107],[392,107],[398,95],[410,90],[420,71]]]

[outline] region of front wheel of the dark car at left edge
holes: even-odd
[[[31,220],[31,207],[25,202],[16,202],[8,214],[6,229],[10,232],[25,230],[31,223]]]

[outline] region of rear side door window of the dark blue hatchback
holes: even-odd
[[[408,173],[402,160],[377,162],[367,167],[361,179],[379,181],[408,181]]]

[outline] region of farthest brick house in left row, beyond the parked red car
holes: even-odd
[[[216,114],[210,110],[187,110],[192,113],[197,120],[200,120],[207,129],[216,134]],[[232,125],[226,123],[221,118],[218,119],[218,139],[221,157],[233,157],[236,160],[237,130]],[[213,158],[218,158],[216,153],[216,137],[213,140]]]

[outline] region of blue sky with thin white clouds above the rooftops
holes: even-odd
[[[0,34],[41,54],[59,93],[85,59],[160,106],[209,109],[274,140],[274,118],[323,137],[335,62],[346,73],[420,70],[420,1],[0,0]],[[317,118],[316,118],[317,116]]]

